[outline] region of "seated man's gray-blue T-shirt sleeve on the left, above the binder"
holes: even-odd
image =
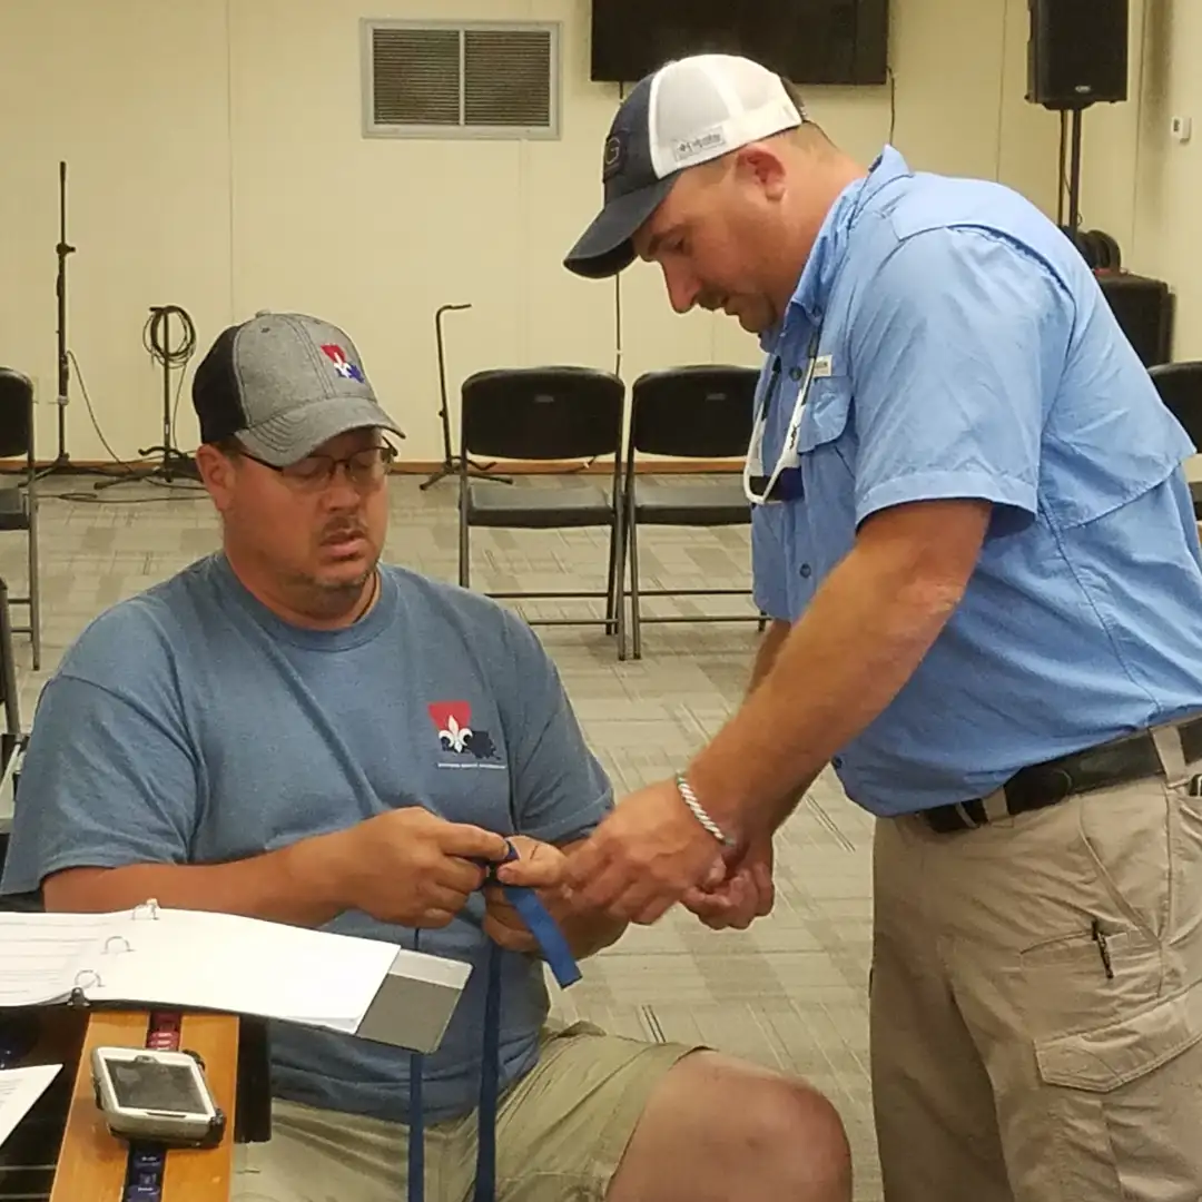
[[[168,722],[73,676],[47,684],[22,766],[4,893],[67,868],[185,863],[196,769]]]

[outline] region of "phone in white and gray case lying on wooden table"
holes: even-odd
[[[113,1135],[167,1147],[221,1142],[225,1114],[191,1052],[99,1047],[91,1053],[91,1079]]]

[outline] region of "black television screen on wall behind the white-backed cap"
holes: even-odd
[[[593,0],[596,81],[704,53],[745,54],[797,84],[885,83],[888,0]]]

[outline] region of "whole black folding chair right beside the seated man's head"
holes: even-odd
[[[459,583],[470,588],[474,526],[609,530],[609,575],[605,593],[573,589],[490,593],[496,599],[605,597],[603,619],[543,618],[531,625],[603,625],[625,641],[618,603],[621,545],[620,450],[625,385],[591,368],[508,368],[478,371],[463,383],[459,423]],[[555,488],[475,480],[471,457],[538,462],[589,460],[613,456],[609,487],[560,483]]]

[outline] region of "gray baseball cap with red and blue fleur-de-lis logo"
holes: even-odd
[[[221,332],[192,377],[201,440],[237,438],[287,468],[322,442],[375,426],[404,438],[380,407],[355,344],[299,313],[258,313]]]

